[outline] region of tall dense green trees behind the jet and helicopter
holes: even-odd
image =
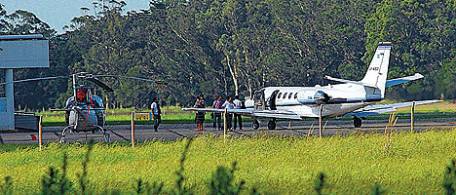
[[[452,0],[151,0],[125,11],[124,1],[92,0],[86,14],[57,33],[33,13],[0,7],[0,33],[42,33],[51,68],[15,79],[96,74],[140,76],[162,84],[106,80],[97,90],[112,106],[143,107],[153,96],[191,104],[203,94],[250,97],[267,86],[328,84],[325,75],[359,80],[379,41],[393,42],[388,77],[425,78],[389,89],[389,99],[456,95],[456,2]],[[20,86],[19,86],[20,85]],[[22,108],[61,106],[69,81],[17,84]],[[36,97],[36,98],[30,98]]]

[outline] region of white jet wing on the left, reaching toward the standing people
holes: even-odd
[[[194,111],[194,112],[214,112],[223,113],[225,109],[215,108],[183,108],[183,111]],[[228,109],[228,113],[240,114],[250,117],[260,118],[276,118],[276,119],[288,119],[288,120],[301,120],[301,116],[298,114],[286,111],[286,110],[254,110],[254,109]]]

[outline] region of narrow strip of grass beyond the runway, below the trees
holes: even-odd
[[[163,107],[162,122],[165,124],[175,123],[193,123],[195,114],[191,112],[184,112],[177,106]],[[133,109],[110,109],[106,111],[107,125],[128,125],[130,124]],[[148,110],[136,110],[137,112],[149,112]],[[440,102],[430,105],[420,105],[416,107],[417,119],[420,118],[448,118],[454,117],[453,113],[456,112],[456,104],[450,102]],[[398,110],[399,115],[407,115],[410,113],[410,108],[402,108]],[[63,126],[65,125],[64,112],[39,112],[38,115],[44,116],[44,126]],[[369,117],[370,119],[387,119],[388,115],[379,115]],[[206,114],[207,121],[212,120],[210,114]],[[249,119],[246,118],[245,121]],[[347,118],[351,120],[351,118]],[[137,124],[146,124],[149,121],[138,121]]]

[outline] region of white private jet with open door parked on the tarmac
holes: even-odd
[[[352,116],[354,126],[361,127],[361,118],[394,112],[408,107],[412,102],[374,104],[385,98],[385,88],[423,78],[413,76],[387,80],[391,43],[380,42],[374,57],[361,81],[349,81],[326,76],[328,80],[343,84],[315,87],[266,87],[247,100],[246,109],[229,109],[228,113],[254,118],[254,129],[259,128],[259,119],[268,119],[268,129],[276,128],[276,119],[302,120],[303,118],[330,118]],[[415,105],[430,104],[438,100],[416,101]],[[224,112],[224,109],[183,108],[184,111]]]

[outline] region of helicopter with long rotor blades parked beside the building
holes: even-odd
[[[32,79],[16,80],[13,83],[24,83],[42,80],[54,79],[72,79],[73,95],[65,102],[63,109],[51,109],[51,111],[65,111],[66,127],[62,130],[59,142],[65,143],[67,133],[92,132],[99,131],[103,135],[105,142],[110,142],[110,134],[106,130],[106,112],[103,98],[93,94],[94,88],[87,85],[78,85],[78,81],[89,81],[106,92],[112,93],[114,90],[100,80],[100,78],[115,78],[115,79],[132,79],[144,82],[153,82],[161,84],[160,81],[155,81],[146,78],[121,76],[121,75],[93,75],[87,72],[74,73],[67,76],[41,77]],[[6,83],[0,83],[4,85]]]

